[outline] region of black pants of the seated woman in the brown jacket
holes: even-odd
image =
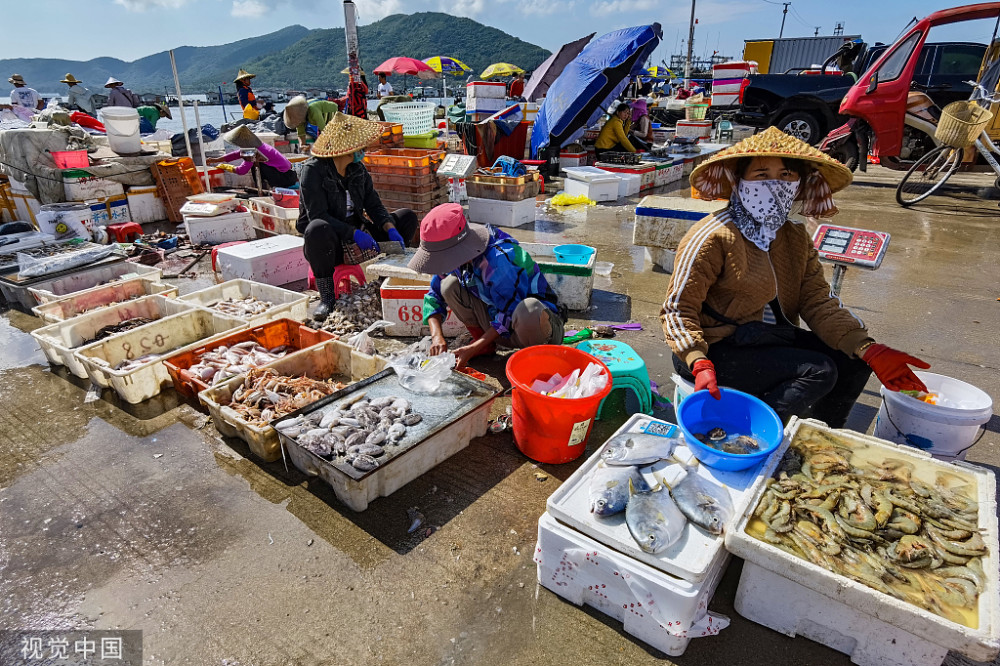
[[[811,416],[843,427],[864,390],[871,368],[860,359],[828,347],[812,331],[796,333],[794,346],[738,347],[728,338],[708,348],[719,386],[755,395],[785,423]],[[688,381],[691,371],[674,356],[674,369]]]

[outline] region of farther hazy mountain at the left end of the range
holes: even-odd
[[[237,70],[261,53],[280,51],[310,34],[308,28],[293,25],[260,37],[241,39],[221,46],[181,46],[174,49],[177,74],[185,92],[212,90],[223,81],[232,82]],[[125,62],[117,58],[94,58],[86,62],[55,58],[11,58],[0,60],[0,72],[17,72],[29,86],[42,93],[61,92],[59,80],[71,72],[96,91],[109,76],[121,79],[138,93],[174,90],[170,55],[166,51]],[[9,74],[7,75],[9,76]],[[6,78],[6,76],[4,77]]]

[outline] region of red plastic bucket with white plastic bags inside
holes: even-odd
[[[568,375],[597,363],[608,375],[604,390],[587,398],[552,398],[531,390],[536,379],[555,373]],[[597,416],[597,408],[611,392],[611,372],[601,361],[574,347],[538,345],[514,352],[507,360],[514,443],[521,453],[543,463],[564,463],[579,458]]]

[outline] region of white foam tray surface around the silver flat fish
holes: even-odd
[[[615,434],[625,432],[640,432],[646,424],[658,421],[643,414],[634,414]],[[666,423],[666,421],[658,421]],[[625,513],[602,518],[590,512],[590,477],[597,463],[601,460],[602,445],[594,455],[587,459],[566,481],[549,496],[547,508],[557,520],[582,532],[594,540],[609,546],[633,559],[648,564],[651,567],[691,582],[705,579],[712,571],[716,562],[726,556],[723,535],[712,535],[695,527],[690,522],[684,528],[680,540],[662,553],[652,555],[644,552],[636,544],[625,524]],[[750,495],[758,486],[763,486],[764,479],[769,477],[788,442],[782,442],[770,457],[761,465],[740,472],[724,472],[714,470],[705,465],[695,468],[699,474],[716,484],[728,487],[733,502],[734,518],[745,512]],[[678,448],[678,457],[690,458],[687,447]],[[656,471],[658,476],[668,482],[671,476],[679,475],[679,465],[661,461],[655,465],[643,468],[647,482],[655,483],[649,475],[649,470]],[[727,525],[727,531],[731,529]]]

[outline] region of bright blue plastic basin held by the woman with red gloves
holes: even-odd
[[[778,414],[762,400],[728,388],[720,388],[722,399],[716,400],[708,391],[696,391],[677,408],[677,425],[684,433],[688,448],[703,465],[714,469],[737,471],[764,461],[785,437]],[[756,453],[741,455],[726,453],[706,446],[694,433],[707,433],[722,428],[727,433],[753,435],[761,442]]]

